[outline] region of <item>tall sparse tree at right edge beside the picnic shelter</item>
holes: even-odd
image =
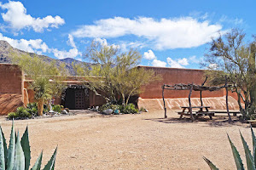
[[[245,33],[233,29],[212,39],[204,64],[209,69],[207,76],[212,85],[224,84],[225,77],[228,77],[228,82],[234,86],[231,90],[237,94],[244,118],[256,111],[255,45],[255,39],[245,42]]]

